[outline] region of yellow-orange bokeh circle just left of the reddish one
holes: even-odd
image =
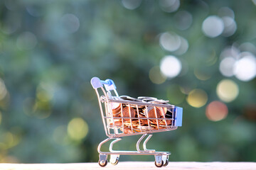
[[[201,108],[204,106],[208,100],[206,91],[201,89],[193,89],[189,92],[188,97],[186,98],[188,104],[195,108]]]

